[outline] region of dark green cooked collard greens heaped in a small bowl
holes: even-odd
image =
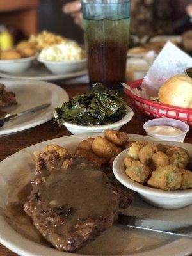
[[[118,94],[105,88],[102,84],[94,84],[90,93],[72,97],[69,102],[56,108],[59,125],[71,122],[77,125],[111,124],[122,119],[127,113],[126,103]]]

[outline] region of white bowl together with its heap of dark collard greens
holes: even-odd
[[[72,134],[118,131],[134,115],[115,90],[102,84],[94,84],[89,93],[74,96],[55,110],[55,121]]]

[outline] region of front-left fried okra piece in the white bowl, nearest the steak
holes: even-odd
[[[151,170],[142,164],[140,161],[137,161],[131,157],[125,157],[124,164],[126,166],[125,173],[132,180],[145,184],[151,175]]]

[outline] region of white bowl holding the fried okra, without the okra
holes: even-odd
[[[121,152],[113,162],[113,173],[120,183],[138,193],[148,204],[158,208],[180,209],[192,204],[192,189],[164,191],[131,180],[125,173],[124,159],[127,151],[128,149],[125,149]]]

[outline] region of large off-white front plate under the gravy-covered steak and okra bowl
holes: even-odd
[[[77,144],[88,136],[102,134],[83,134],[66,136],[54,140],[44,141],[20,150],[0,163],[0,243],[22,256],[70,256],[71,253],[60,252],[45,243],[31,224],[21,225],[3,216],[5,205],[17,200],[17,193],[34,175],[34,150],[43,150],[50,143],[58,144],[73,151]],[[156,141],[154,138],[128,134],[129,140]],[[166,143],[166,142],[162,142]],[[187,143],[175,143],[186,149],[191,147]],[[135,198],[124,214],[154,218],[160,220],[192,223],[192,205],[179,210],[157,209]],[[171,227],[170,227],[171,228]],[[76,255],[129,255],[129,256],[184,256],[192,253],[191,239],[164,236],[159,233],[139,231],[125,226],[113,225],[95,241],[74,253]]]

